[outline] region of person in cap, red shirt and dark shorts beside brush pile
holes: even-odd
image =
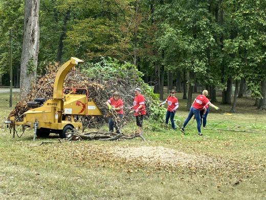
[[[136,88],[134,90],[134,93],[135,93],[135,98],[131,109],[135,111],[134,116],[136,117],[136,123],[137,126],[139,127],[137,133],[142,133],[143,115],[146,114],[145,99],[144,96],[141,95],[140,88]]]

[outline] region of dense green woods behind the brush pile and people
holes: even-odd
[[[237,97],[249,89],[258,108],[266,109],[265,1],[40,0],[39,12],[33,10],[39,15],[38,60],[25,62],[27,1],[0,0],[0,7],[0,84],[9,83],[12,28],[15,87],[27,74],[23,66],[35,61],[38,75],[52,61],[75,56],[98,62],[110,56],[136,65],[161,99],[163,86],[175,87],[190,108],[192,93],[200,87],[209,90],[212,102],[221,90],[221,103],[233,104],[234,112]]]

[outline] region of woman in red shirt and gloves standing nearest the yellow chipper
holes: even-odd
[[[119,115],[120,118],[123,118],[123,101],[120,98],[119,92],[114,92],[113,97],[106,102],[108,110],[114,110]],[[116,127],[116,132],[120,133],[119,127],[113,121],[113,116],[109,117],[109,132],[114,132],[114,126]]]

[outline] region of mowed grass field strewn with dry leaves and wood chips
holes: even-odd
[[[180,126],[188,111],[183,94],[176,96]],[[1,93],[0,199],[266,199],[266,112],[251,97],[226,115],[231,106],[218,96],[220,111],[210,110],[203,136],[192,119],[185,135],[146,120],[146,142],[71,143],[52,134],[33,142],[31,129],[12,138],[4,125],[8,99]],[[123,132],[135,129],[132,122]]]

